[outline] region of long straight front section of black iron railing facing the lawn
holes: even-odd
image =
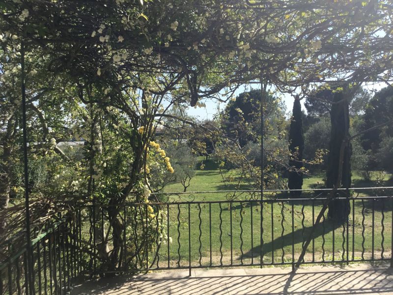
[[[176,193],[158,196],[164,197],[166,202],[126,203],[119,213],[126,224],[119,246],[124,251],[119,263],[121,267],[104,270],[97,260],[93,271],[174,268],[191,271],[204,267],[294,267],[298,262],[330,264],[391,260],[392,197],[334,198],[350,203],[346,221],[331,220],[325,212],[315,224],[321,209],[332,200],[326,195],[321,197],[321,192],[324,190],[316,190],[313,193],[318,197],[307,199],[288,199],[266,193],[261,200],[260,192],[233,194],[226,191],[223,201],[216,201],[222,192]],[[213,194],[216,196],[211,197]],[[96,222],[109,224],[105,217],[108,207],[99,210],[102,220]],[[153,218],[148,217],[150,211],[155,213]],[[140,219],[140,216],[146,218]],[[150,222],[154,222],[154,226],[149,226]],[[132,233],[135,228],[140,231]],[[152,244],[146,243],[149,249],[138,250],[143,255],[135,251],[137,238],[140,243],[150,239]],[[91,237],[86,239],[92,240]],[[309,246],[300,259],[308,239]]]

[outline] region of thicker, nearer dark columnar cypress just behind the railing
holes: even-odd
[[[326,170],[327,188],[334,188],[337,183],[340,187],[351,186],[351,154],[352,147],[349,139],[349,99],[344,99],[343,91],[336,92],[333,98],[331,120],[331,137],[329,143],[328,166]],[[340,149],[343,148],[343,157]],[[342,163],[342,173],[339,171]],[[341,176],[341,179],[338,179]],[[338,180],[338,181],[337,181]],[[338,187],[337,187],[338,188]],[[347,191],[339,191],[337,197],[349,197]],[[334,199],[329,203],[328,216],[336,222],[345,222],[350,212],[349,200]]]

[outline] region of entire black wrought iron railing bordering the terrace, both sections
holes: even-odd
[[[154,203],[118,206],[117,242],[111,207],[77,207],[48,223],[30,249],[6,241],[0,295],[67,294],[80,274],[392,261],[393,197],[378,196],[381,191],[335,197],[350,204],[344,222],[326,212],[316,222],[332,201],[325,190],[303,199],[280,191],[265,191],[262,199],[258,191],[161,193]]]

